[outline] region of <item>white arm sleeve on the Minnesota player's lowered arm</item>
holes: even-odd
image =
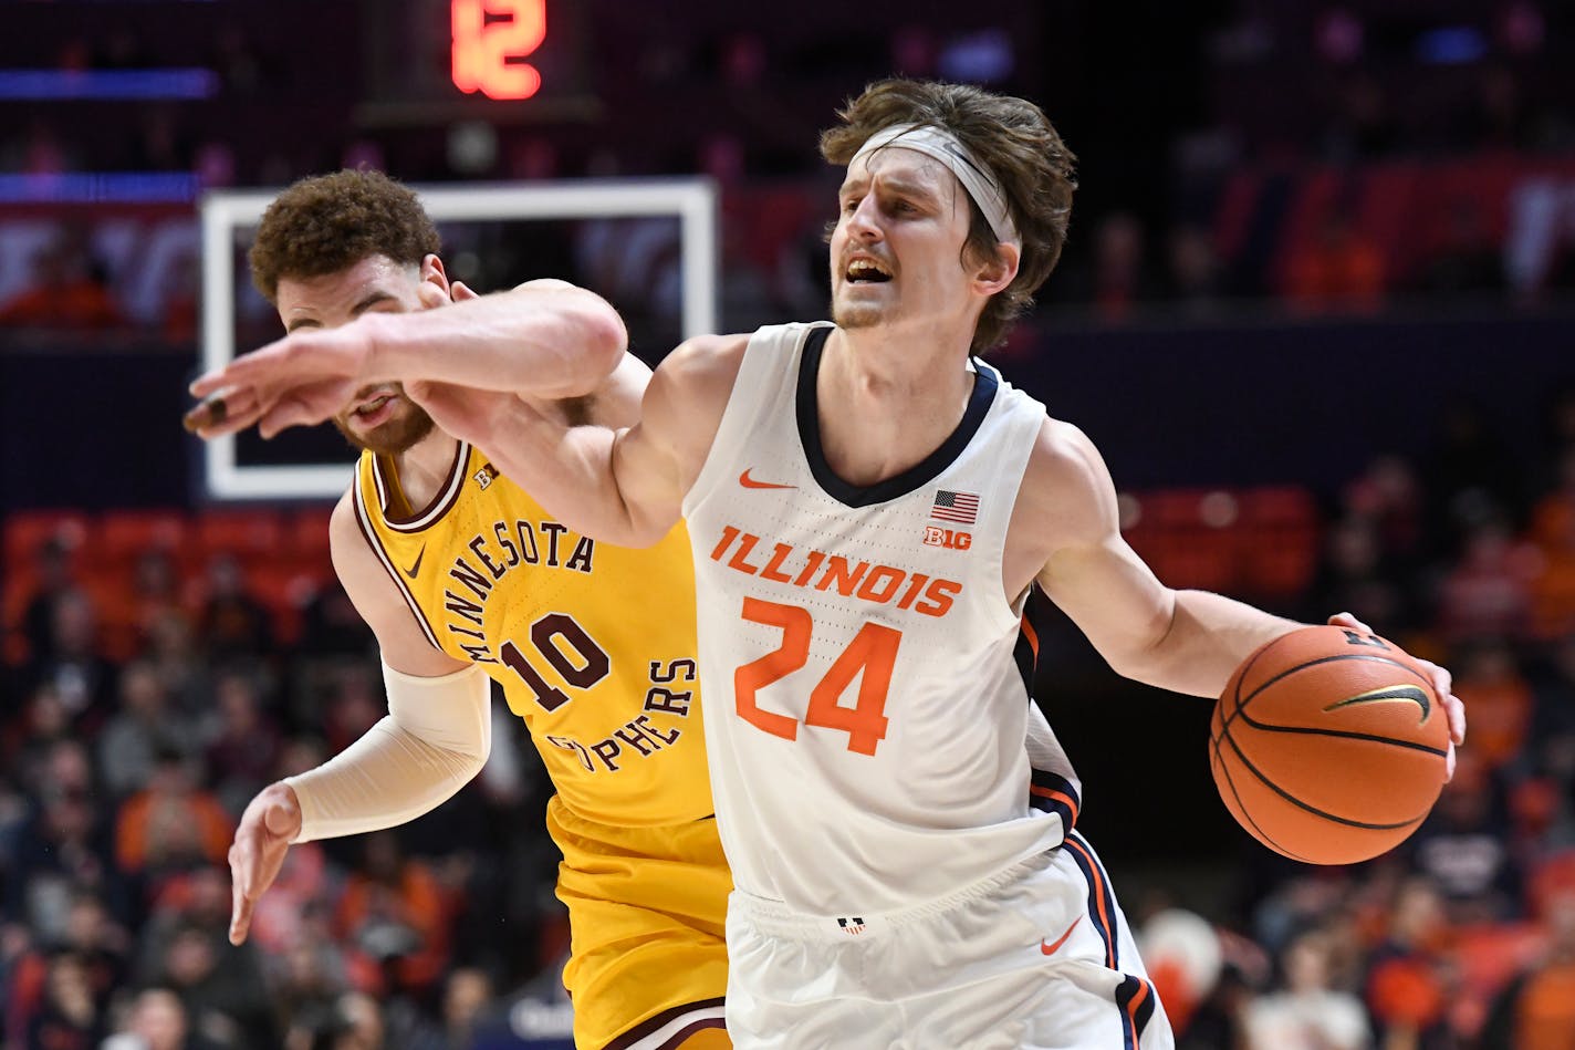
[[[317,769],[285,777],[301,801],[295,842],[392,828],[447,801],[487,765],[491,692],[471,665],[416,678],[387,664],[389,713]]]

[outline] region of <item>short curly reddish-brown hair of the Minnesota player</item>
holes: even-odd
[[[280,277],[321,277],[369,255],[421,263],[443,246],[414,191],[383,172],[313,175],[279,194],[247,255],[252,284],[276,301]]]

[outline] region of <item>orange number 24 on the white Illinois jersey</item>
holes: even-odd
[[[814,620],[808,609],[759,598],[743,599],[743,618],[780,629],[783,640],[773,651],[732,673],[739,717],[772,736],[799,739],[797,719],[761,708],[756,697],[761,689],[799,672],[810,661]],[[843,730],[847,733],[847,750],[876,754],[887,733],[885,700],[901,642],[902,632],[896,627],[863,624],[810,692],[803,724]],[[858,678],[858,695],[852,706],[844,706],[841,698],[854,678]]]

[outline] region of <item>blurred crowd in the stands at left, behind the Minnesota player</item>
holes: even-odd
[[[30,525],[32,555],[8,552],[0,1045],[465,1047],[498,992],[559,962],[543,774],[512,719],[433,817],[291,850],[230,946],[241,809],[386,709],[324,516],[302,517],[324,531],[295,561],[272,533],[202,541],[178,512],[123,517],[123,539],[74,514]],[[249,583],[265,563],[287,590]]]

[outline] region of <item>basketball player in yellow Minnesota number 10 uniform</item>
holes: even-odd
[[[291,333],[268,350],[291,355],[288,407],[331,415],[362,449],[334,509],[332,557],[376,634],[389,716],[247,806],[230,850],[230,940],[246,938],[291,842],[403,823],[480,769],[491,676],[556,787],[547,821],[564,853],[575,1044],[728,1047],[731,878],[682,527],[643,550],[573,533],[380,377],[421,348],[439,358],[422,378],[474,391],[477,405],[523,399],[564,421],[628,426],[649,370],[624,353],[622,322],[598,296],[543,281],[476,296],[449,282],[436,251],[413,192],[339,172],[274,200],[250,252]],[[194,388],[219,394],[187,416],[192,429],[228,434],[277,407],[246,369],[243,358]]]

